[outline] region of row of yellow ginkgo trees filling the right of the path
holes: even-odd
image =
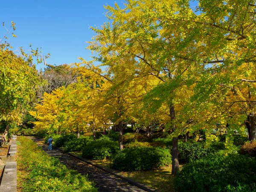
[[[122,150],[126,124],[161,123],[173,136],[173,175],[179,135],[204,130],[211,142],[218,126],[227,147],[234,130],[255,140],[255,1],[199,0],[197,12],[189,0],[122,7],[106,6],[109,22],[92,27],[93,61],[63,66],[74,79],[44,93],[31,112],[36,129],[95,132],[113,122]]]

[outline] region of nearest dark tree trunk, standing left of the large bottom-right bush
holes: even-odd
[[[175,109],[174,105],[169,106],[171,121],[175,120]],[[175,131],[175,123],[172,125],[172,132]],[[176,175],[179,170],[179,154],[178,154],[178,137],[172,138],[172,175]]]

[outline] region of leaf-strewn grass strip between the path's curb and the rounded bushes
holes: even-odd
[[[81,152],[71,152],[74,155],[81,157]],[[104,167],[105,169],[111,169],[111,160],[90,160],[91,162]],[[135,171],[135,172],[120,172],[111,169],[124,177],[129,177],[136,180],[139,183],[143,183],[151,188],[157,189],[159,192],[175,192],[173,177],[171,175],[172,166],[165,166],[159,169],[151,171]]]

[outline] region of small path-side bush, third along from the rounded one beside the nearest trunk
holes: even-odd
[[[85,145],[93,142],[93,137],[80,137],[65,143],[64,151],[82,151]]]

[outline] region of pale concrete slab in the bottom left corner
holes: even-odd
[[[17,163],[6,162],[2,181],[0,184],[0,192],[16,192],[17,191]]]

